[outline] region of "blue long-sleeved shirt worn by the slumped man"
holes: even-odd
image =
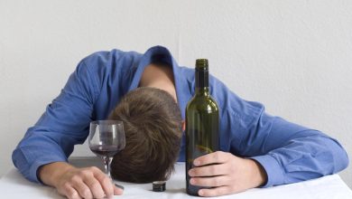
[[[106,119],[121,97],[138,87],[144,67],[152,62],[172,67],[184,118],[194,94],[194,70],[179,66],[166,48],[155,46],[144,54],[96,52],[79,62],[60,95],[27,130],[14,150],[14,166],[29,180],[40,182],[39,166],[67,161],[74,145],[88,137],[89,122]],[[242,100],[213,76],[209,84],[220,110],[220,149],[258,161],[268,176],[264,186],[334,174],[347,167],[347,153],[337,140],[268,115],[262,104]],[[183,136],[179,161],[184,159]]]

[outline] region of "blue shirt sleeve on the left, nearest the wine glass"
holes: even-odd
[[[39,166],[67,161],[76,144],[88,137],[97,80],[84,61],[69,76],[60,95],[51,102],[13,152],[14,166],[32,182],[39,183]]]

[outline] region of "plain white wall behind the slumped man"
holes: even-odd
[[[81,58],[155,44],[181,65],[208,58],[237,94],[338,138],[352,158],[352,1],[0,0],[0,175]],[[351,166],[341,175],[352,187]]]

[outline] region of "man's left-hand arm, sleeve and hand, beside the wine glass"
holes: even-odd
[[[100,57],[102,54],[93,55],[90,60],[101,62]],[[60,194],[72,198],[77,194],[79,197],[111,195],[113,187],[100,170],[76,168],[67,163],[74,145],[82,144],[88,136],[88,125],[93,118],[99,84],[96,74],[90,71],[92,65],[89,62],[88,66],[85,60],[79,63],[60,95],[27,130],[13,153],[14,166],[27,179],[54,186]]]

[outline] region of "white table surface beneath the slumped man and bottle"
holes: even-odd
[[[70,160],[75,166],[102,165],[95,157],[76,158]],[[185,193],[185,171],[183,163],[176,163],[175,174],[166,183],[166,191],[156,193],[151,191],[152,184],[131,184],[118,182],[125,186],[123,195],[116,198],[199,198]],[[37,185],[27,181],[15,168],[10,169],[0,179],[1,198],[62,198],[54,188]],[[224,195],[218,198],[352,198],[352,191],[338,175],[328,175],[319,179],[305,181],[291,185],[280,185],[269,188],[255,188],[240,194]]]

